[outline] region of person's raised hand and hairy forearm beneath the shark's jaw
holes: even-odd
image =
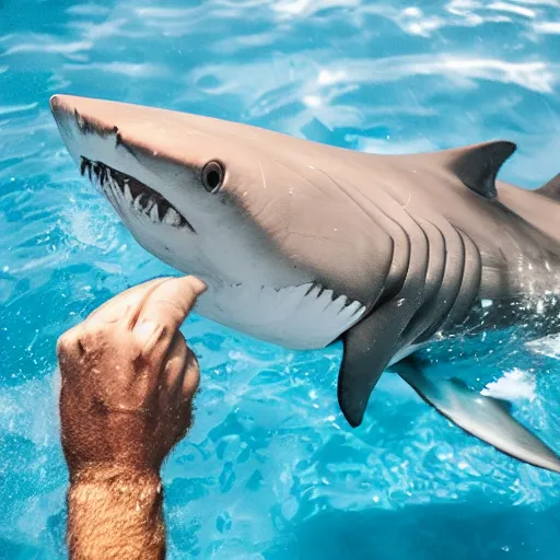
[[[72,560],[165,557],[160,469],[200,378],[179,326],[205,290],[195,277],[145,282],[58,340]]]

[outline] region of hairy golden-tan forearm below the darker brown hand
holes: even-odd
[[[70,477],[71,560],[165,558],[163,489],[156,472],[90,468]]]

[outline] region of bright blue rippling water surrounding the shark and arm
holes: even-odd
[[[376,152],[503,138],[503,177],[558,173],[557,0],[0,1],[0,558],[65,558],[56,338],[170,272],[79,178],[55,92]],[[385,375],[336,404],[340,346],[289,352],[200,317],[196,425],[164,468],[170,558],[558,558],[558,476],[464,435]],[[560,448],[560,348],[458,373]],[[458,368],[458,366],[457,366]]]

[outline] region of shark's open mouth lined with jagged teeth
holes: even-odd
[[[88,174],[90,180],[100,188],[119,213],[122,203],[128,202],[129,209],[144,214],[153,223],[187,229],[196,233],[188,220],[167,199],[137,178],[83,155],[80,174]]]

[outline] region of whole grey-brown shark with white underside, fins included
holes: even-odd
[[[502,402],[427,382],[413,358],[498,328],[560,331],[560,176],[536,191],[497,180],[508,141],[374,155],[153,107],[50,106],[138,243],[207,283],[198,313],[287,348],[342,338],[352,427],[393,369],[467,432],[560,471]]]

